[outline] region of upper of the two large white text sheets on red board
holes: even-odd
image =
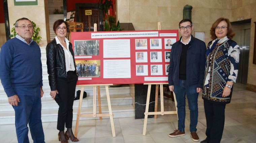
[[[130,39],[103,40],[103,58],[130,58]]]

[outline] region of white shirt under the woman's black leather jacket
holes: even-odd
[[[55,36],[55,40],[57,44],[60,44],[61,47],[64,50],[64,54],[65,54],[65,63],[66,63],[66,72],[68,71],[75,71],[75,66],[74,66],[74,61],[73,61],[73,56],[69,51],[69,41],[67,38],[65,38],[65,42],[66,42],[66,46],[67,49],[60,43],[59,39],[57,36]]]

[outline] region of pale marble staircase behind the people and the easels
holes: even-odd
[[[45,47],[40,47],[41,49],[41,61],[42,61],[42,71],[43,71],[43,91],[44,95],[42,100],[42,122],[57,122],[58,117],[58,104],[50,96],[50,86],[48,81],[47,66],[46,66],[46,52]],[[77,90],[81,90],[79,87]],[[93,88],[85,87],[87,92],[87,97],[83,99],[81,114],[92,114],[93,113]],[[97,92],[96,92],[97,93]],[[108,113],[106,90],[105,86],[100,86],[101,94],[101,106],[102,113]],[[135,110],[132,105],[132,97],[130,95],[129,85],[123,85],[122,87],[109,87],[110,102],[112,106],[112,112],[114,118],[124,118],[124,117],[135,117]],[[76,120],[78,100],[74,101],[73,105],[73,121]],[[98,100],[97,100],[98,103]],[[97,108],[98,112],[98,108]],[[109,117],[103,117],[109,118]],[[91,117],[81,117],[80,120],[90,120],[95,119]],[[98,119],[98,118],[96,118]],[[14,124],[15,116],[12,106],[8,103],[7,95],[4,92],[2,83],[0,83],[0,125],[4,124]]]

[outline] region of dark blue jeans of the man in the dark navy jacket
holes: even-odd
[[[178,130],[184,132],[185,118],[186,118],[186,94],[188,98],[188,105],[190,110],[190,132],[196,131],[197,118],[198,118],[198,93],[196,92],[197,85],[187,86],[186,80],[179,79],[179,84],[174,85],[174,93],[177,100],[178,108]]]

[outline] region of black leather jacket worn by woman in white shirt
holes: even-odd
[[[74,52],[71,43],[69,43],[68,49],[73,56],[75,66]],[[64,50],[60,44],[56,43],[55,39],[48,43],[46,46],[46,58],[47,73],[49,74],[48,79],[51,91],[57,90],[57,78],[67,77],[67,72]]]

